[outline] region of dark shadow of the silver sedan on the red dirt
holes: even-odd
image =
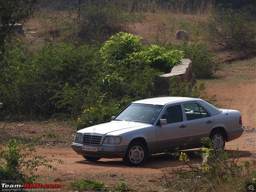
[[[235,154],[238,156],[241,154],[240,157],[249,157],[252,155],[250,151],[241,151],[241,150],[226,150],[228,153],[233,156]],[[185,152],[185,151],[182,151]],[[186,154],[188,155],[191,163],[200,163],[202,158],[200,156],[195,155],[195,152],[199,152],[199,149],[187,150]],[[100,159],[99,161],[77,161],[77,164],[89,164],[92,166],[99,166],[99,167],[129,167],[127,166],[124,161],[120,159]],[[141,165],[138,166],[140,168],[150,168],[150,169],[159,169],[159,168],[172,168],[182,165],[182,162],[179,161],[179,157],[174,157],[171,153],[161,153],[156,155],[148,156],[146,161]]]

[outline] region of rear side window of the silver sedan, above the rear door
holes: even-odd
[[[211,116],[203,107],[197,103],[184,103],[183,108],[185,110],[188,121]]]

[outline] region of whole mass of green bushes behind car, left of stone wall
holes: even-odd
[[[107,114],[80,117],[88,126],[109,121],[122,109],[116,104],[153,97],[155,77],[178,65],[183,54],[157,45],[144,47],[140,39],[121,32],[103,46],[48,43],[36,53],[22,48],[6,52],[0,62],[1,115],[76,119],[90,108]]]

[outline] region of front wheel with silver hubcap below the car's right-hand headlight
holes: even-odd
[[[127,148],[124,162],[129,166],[141,165],[147,157],[147,150],[140,142],[132,142]]]

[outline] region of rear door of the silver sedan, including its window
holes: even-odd
[[[202,146],[201,139],[209,136],[214,117],[196,102],[183,103],[182,106],[188,128],[188,146]]]

